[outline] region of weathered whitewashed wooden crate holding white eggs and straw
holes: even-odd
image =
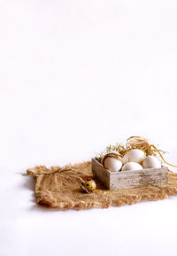
[[[96,159],[92,159],[92,172],[108,190],[163,185],[167,182],[168,168],[149,168],[138,171],[110,172]]]

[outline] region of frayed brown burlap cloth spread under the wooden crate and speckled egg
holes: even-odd
[[[133,205],[145,200],[158,200],[177,195],[177,174],[171,171],[168,171],[168,182],[165,185],[128,190],[107,190],[92,175],[90,162],[63,168],[40,166],[28,169],[27,174],[36,178],[37,203],[60,210]],[[88,177],[96,181],[96,190],[85,194],[81,192],[80,184]]]

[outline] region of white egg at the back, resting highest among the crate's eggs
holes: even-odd
[[[142,160],[145,158],[144,151],[133,149],[130,151],[127,151],[123,157],[123,161],[126,164],[127,162],[135,162],[140,164]]]

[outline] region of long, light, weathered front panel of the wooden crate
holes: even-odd
[[[163,185],[167,182],[167,173],[168,169],[166,167],[113,173],[110,175],[110,189],[123,190],[135,187]]]

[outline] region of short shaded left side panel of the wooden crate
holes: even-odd
[[[96,159],[92,159],[92,173],[110,190],[110,173]]]

